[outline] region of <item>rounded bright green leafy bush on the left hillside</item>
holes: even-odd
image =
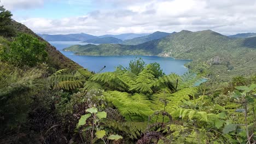
[[[28,65],[34,67],[38,63],[45,62],[47,53],[45,51],[46,44],[40,42],[37,38],[30,34],[20,34],[5,49],[5,61],[18,65]]]

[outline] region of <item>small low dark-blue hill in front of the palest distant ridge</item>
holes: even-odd
[[[83,42],[92,43],[92,44],[118,44],[118,43],[122,43],[123,40],[120,40],[114,37],[104,37],[104,38],[89,39]]]

